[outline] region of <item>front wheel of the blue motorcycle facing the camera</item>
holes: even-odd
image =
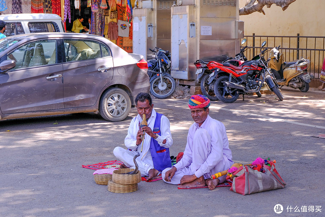
[[[176,88],[175,79],[171,76],[162,76],[162,83],[160,82],[160,76],[154,78],[150,82],[150,93],[158,98],[165,99],[172,95]]]

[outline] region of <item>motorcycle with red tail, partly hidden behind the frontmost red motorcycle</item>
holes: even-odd
[[[243,39],[241,41],[241,44],[243,45],[246,42],[246,39]],[[247,58],[244,55],[244,51],[246,50],[247,46],[240,49],[240,53],[235,55],[235,58],[232,57],[226,57],[226,60],[222,61],[224,63],[230,63],[234,66],[240,66],[244,61],[247,60]],[[202,60],[197,60],[194,62],[194,65],[196,66],[196,75],[197,75],[197,81],[202,77],[201,80],[201,92],[203,95],[206,95],[210,100],[217,101],[219,100],[218,97],[214,94],[214,81],[216,80],[216,74],[214,74],[214,70],[216,69],[215,61],[209,61],[205,62]]]

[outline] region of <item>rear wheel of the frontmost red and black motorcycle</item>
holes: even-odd
[[[235,88],[227,88],[223,81],[228,81],[229,76],[221,76],[214,82],[214,93],[218,99],[225,103],[235,102],[239,97],[239,92]]]

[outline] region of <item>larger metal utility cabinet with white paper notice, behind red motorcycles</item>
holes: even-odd
[[[235,56],[243,38],[238,0],[179,0],[171,7],[171,75],[195,85],[198,59]]]

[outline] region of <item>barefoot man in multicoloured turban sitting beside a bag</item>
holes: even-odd
[[[229,149],[226,128],[209,115],[210,100],[193,95],[188,101],[195,123],[188,130],[182,159],[162,171],[166,183],[180,184],[179,188],[208,186],[213,190],[226,176],[210,179],[211,175],[227,170],[234,163]]]

